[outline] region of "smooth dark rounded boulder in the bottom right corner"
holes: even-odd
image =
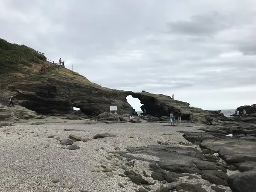
[[[230,175],[227,183],[233,192],[255,192],[256,190],[256,169]]]

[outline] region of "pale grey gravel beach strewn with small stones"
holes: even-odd
[[[36,123],[35,123],[36,122]],[[31,125],[31,124],[39,125]],[[126,147],[158,145],[157,141],[173,145],[192,145],[176,131],[198,131],[193,127],[163,126],[164,123],[101,123],[86,124],[85,121],[64,120],[49,117],[42,120],[24,121],[0,128],[0,191],[1,192],[134,192],[140,187],[128,177],[119,176],[124,172],[126,158],[110,152],[126,151]],[[64,129],[76,129],[64,131]],[[67,149],[60,140],[69,139],[70,134],[90,138],[96,134],[110,133],[117,137],[76,141],[80,148]],[[53,137],[53,138],[52,138]],[[150,155],[134,154],[148,160],[158,160]],[[136,160],[129,169],[141,173],[148,170],[147,161]],[[111,171],[105,172],[109,167]],[[199,175],[200,177],[200,175]],[[146,178],[151,191],[159,189],[160,181]],[[186,177],[181,177],[186,180]],[[198,180],[188,180],[197,183]],[[209,192],[210,183],[204,180],[203,188]],[[226,187],[226,192],[230,189]]]

